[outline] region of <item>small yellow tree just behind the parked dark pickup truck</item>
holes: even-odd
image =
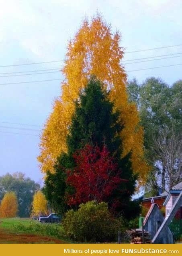
[[[40,216],[46,215],[47,213],[47,200],[45,199],[44,194],[39,190],[33,196],[32,215]]]

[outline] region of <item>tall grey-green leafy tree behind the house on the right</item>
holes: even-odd
[[[175,138],[178,138],[178,144],[181,143],[182,80],[174,83],[171,87],[159,78],[148,78],[141,85],[133,80],[129,82],[127,89],[130,95],[129,99],[137,104],[141,125],[144,127],[145,155],[151,166],[146,186],[147,196],[158,195],[159,187],[163,191],[168,190],[172,184],[175,185],[179,181],[173,175],[173,172],[176,172],[176,167],[173,166],[170,168],[172,170],[171,177],[173,177],[171,185],[168,182],[165,184],[167,176],[169,176],[169,173],[166,173],[165,159],[169,156],[167,152],[169,142],[172,143],[176,140]],[[162,134],[166,134],[167,140]],[[162,143],[163,147],[166,144],[165,152],[163,150],[162,153],[159,143]],[[177,158],[179,159],[179,156]]]

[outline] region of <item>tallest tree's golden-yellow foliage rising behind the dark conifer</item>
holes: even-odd
[[[128,102],[120,39],[119,32],[112,34],[110,25],[97,15],[90,23],[84,20],[75,38],[68,44],[62,69],[65,76],[61,84],[62,94],[55,101],[41,136],[38,160],[43,173],[47,170],[52,172],[57,157],[67,150],[66,136],[75,110],[74,101],[90,76],[95,75],[110,90],[110,100],[121,112],[123,156],[132,151],[133,169],[139,173],[140,180],[145,180],[149,168],[143,157],[143,128],[139,126],[136,106]]]

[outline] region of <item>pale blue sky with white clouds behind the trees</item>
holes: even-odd
[[[86,16],[99,12],[113,32],[121,32],[123,61],[172,54],[125,65],[128,80],[142,83],[155,76],[172,85],[182,79],[182,65],[176,65],[182,63],[182,45],[176,46],[182,44],[181,0],[0,0],[0,6],[0,176],[23,172],[43,183],[39,135],[61,92],[58,70],[67,43]],[[174,47],[160,48],[164,46]],[[136,52],[151,48],[160,49]],[[59,62],[21,65],[47,61]],[[164,65],[175,66],[134,71]],[[44,69],[56,72],[22,76],[23,71]]]

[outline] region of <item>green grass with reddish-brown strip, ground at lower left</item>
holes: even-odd
[[[39,223],[29,218],[1,218],[0,243],[70,243],[61,224]]]

